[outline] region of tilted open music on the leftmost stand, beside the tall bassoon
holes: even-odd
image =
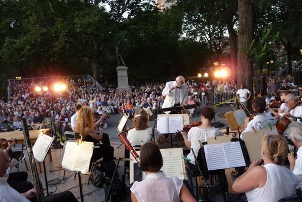
[[[33,146],[33,155],[38,162],[43,162],[55,136],[50,137],[41,132]]]

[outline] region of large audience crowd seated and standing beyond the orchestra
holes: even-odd
[[[36,86],[51,86],[53,83],[61,82],[67,88],[61,92],[53,90],[36,92]],[[233,98],[238,90],[235,80],[207,80],[197,83],[194,80],[187,80],[188,104],[205,106],[214,102],[224,101],[223,97]],[[25,118],[27,125],[33,129],[50,128],[51,121],[59,130],[71,130],[70,117],[76,112],[75,105],[79,101],[92,108],[95,115],[110,115],[113,113],[133,113],[139,109],[148,112],[150,118],[159,112],[164,96],[162,90],[165,87],[161,84],[145,84],[139,87],[129,86],[127,90],[117,90],[112,84],[97,88],[87,77],[74,80],[72,77],[55,80],[33,79],[31,81],[15,80],[9,85],[10,97],[8,100],[0,100],[0,130],[10,131],[21,129],[20,118]],[[267,93],[271,100],[274,99],[274,92],[292,90],[298,92],[297,86],[292,82],[291,77],[284,79],[269,79]],[[226,100],[226,98],[225,98]],[[190,116],[195,109],[189,110]],[[100,116],[95,116],[97,119]],[[107,127],[106,121],[103,127]],[[61,127],[59,127],[61,126]],[[54,126],[53,126],[54,127]]]

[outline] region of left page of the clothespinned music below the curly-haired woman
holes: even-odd
[[[67,142],[62,160],[62,168],[73,171],[75,167],[75,157],[78,155],[78,145],[76,142]]]

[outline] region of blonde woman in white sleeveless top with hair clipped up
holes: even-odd
[[[297,177],[284,166],[288,142],[279,135],[265,135],[261,143],[263,166],[254,160],[249,169],[232,186],[237,193],[245,192],[247,200],[276,202],[296,193]]]

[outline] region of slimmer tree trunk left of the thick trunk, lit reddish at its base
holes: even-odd
[[[237,34],[236,31],[234,30],[234,26],[232,23],[232,19],[229,19],[227,22],[227,29],[230,34],[230,50],[231,50],[231,77],[236,78],[236,68],[237,68]]]

